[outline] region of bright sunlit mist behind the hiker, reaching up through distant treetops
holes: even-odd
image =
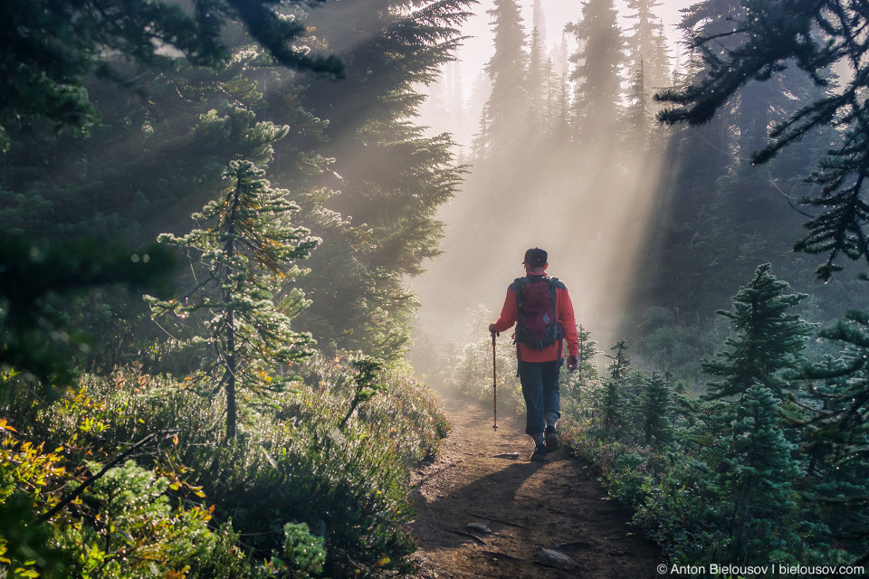
[[[514,80],[528,83],[528,89],[517,98],[505,94],[511,89],[503,79],[508,72],[497,70],[511,51],[504,45],[509,42],[505,28],[510,17],[504,15],[509,4],[499,3],[497,10],[491,3],[483,6],[489,9],[484,16],[482,8],[475,10],[466,27],[474,34],[466,41],[473,50],[460,50],[463,60],[444,67],[423,108],[420,122],[433,132],[454,134],[459,159],[469,164],[470,174],[462,192],[438,213],[446,225],[444,254],[412,281],[422,304],[417,329],[460,342],[485,335],[485,327],[467,327],[470,312],[482,305],[494,321],[507,286],[524,275],[525,250],[540,247],[549,252],[549,275],[567,284],[578,323],[608,339],[623,317],[650,205],[666,172],[666,129],[654,122],[651,96],[676,71],[676,46],[668,40],[673,24],[660,21],[652,33],[642,31],[657,33],[666,50],[645,62],[645,87],[640,89],[645,109],[636,113],[632,108],[638,99],[629,77],[638,70],[641,41],[640,33],[631,30],[638,19],[625,19],[632,14],[625,5],[608,3],[616,10],[610,32],[621,33],[616,42],[624,43],[622,51],[615,51],[619,60],[611,63],[606,52],[613,52],[613,46],[606,43],[614,41],[601,34],[607,32],[608,14],[593,12],[595,4],[607,3],[589,3],[587,14],[578,3],[517,4],[528,59],[526,76]],[[682,7],[646,4],[634,11],[664,14],[668,23],[677,21]],[[578,28],[584,18],[597,20],[592,25],[599,29]],[[637,37],[634,49],[629,48],[631,34]],[[649,74],[653,58],[658,60],[654,81]],[[544,70],[534,71],[534,62]],[[615,82],[615,91],[611,87],[607,92],[606,82]],[[494,106],[501,106],[500,116],[487,119]],[[642,118],[639,123],[630,118],[632,113]],[[499,122],[508,125],[502,134]],[[493,142],[481,154],[486,130]]]

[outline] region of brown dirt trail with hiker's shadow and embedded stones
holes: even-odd
[[[429,579],[659,579],[657,548],[628,535],[629,515],[606,500],[594,471],[559,450],[530,462],[524,422],[444,399],[453,432],[434,464],[415,469],[417,576]],[[508,458],[513,452],[519,458]],[[482,523],[491,533],[468,527]],[[543,561],[557,550],[569,565]]]

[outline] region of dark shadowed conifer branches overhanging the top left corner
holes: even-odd
[[[315,0],[320,2],[321,0]],[[6,129],[22,120],[48,119],[55,128],[87,132],[98,118],[85,78],[125,77],[121,54],[136,62],[171,65],[167,47],[197,65],[221,66],[231,52],[221,36],[228,21],[243,23],[284,66],[340,75],[343,64],[291,45],[306,33],[299,19],[283,18],[272,0],[192,0],[189,10],[169,2],[129,0],[8,0],[0,18],[4,57],[14,65],[0,79],[0,149]],[[301,3],[300,3],[301,4]],[[157,39],[158,42],[157,42]]]

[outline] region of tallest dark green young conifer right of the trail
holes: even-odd
[[[733,297],[734,310],[718,312],[736,330],[726,340],[730,349],[702,362],[704,372],[720,378],[708,383],[703,397],[702,456],[718,475],[725,505],[719,515],[740,562],[798,548],[787,513],[795,508],[792,482],[799,468],[778,406],[788,389],[783,371],[802,363],[812,326],[789,312],[805,294],[787,290],[769,263],[759,266]]]

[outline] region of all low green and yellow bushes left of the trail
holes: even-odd
[[[407,525],[414,513],[406,465],[434,454],[449,429],[433,395],[391,369],[381,375],[382,392],[345,422],[358,377],[346,360],[318,358],[301,375],[298,392],[273,396],[245,414],[232,442],[222,435],[219,394],[203,397],[183,380],[135,368],[108,379],[87,376],[77,392],[44,411],[7,405],[0,415],[13,423],[20,414],[25,428],[10,431],[5,459],[21,440],[42,441],[43,448],[58,449],[43,462],[61,469],[39,493],[24,492],[32,480],[8,485],[32,498],[34,512],[45,512],[64,484],[148,439],[130,455],[135,462],[116,465],[53,517],[45,548],[60,546],[81,576],[151,576],[119,563],[139,544],[151,554],[142,561],[172,562],[158,565],[161,577],[410,573],[415,541]],[[9,473],[0,474],[7,484]],[[159,546],[146,549],[120,523],[124,517],[154,517],[158,522],[146,525],[154,533],[159,521],[180,527],[160,531]]]

